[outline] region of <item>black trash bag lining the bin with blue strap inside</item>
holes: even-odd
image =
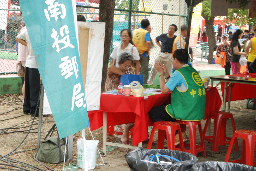
[[[174,157],[181,162],[176,162],[173,159],[167,157],[159,157],[159,160],[163,160],[165,162],[172,162],[173,164],[167,163],[150,163],[141,161],[144,160],[146,157],[153,156],[153,155],[167,155],[170,157]],[[130,167],[130,170],[135,171],[154,171],[154,170],[164,170],[164,171],[189,171],[191,166],[198,162],[196,156],[182,152],[182,151],[175,151],[175,150],[167,150],[167,149],[149,149],[144,150],[142,147],[138,147],[137,149],[131,151],[130,153],[125,155],[126,162]],[[150,160],[150,159],[146,159]],[[155,161],[155,160],[154,160]]]

